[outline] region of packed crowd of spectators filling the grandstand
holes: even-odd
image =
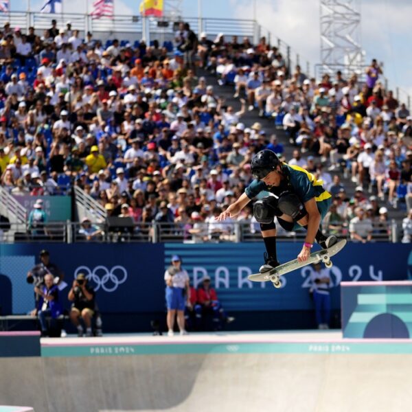
[[[385,90],[376,60],[359,78],[339,71],[308,78],[265,38],[211,40],[187,23],[172,50],[157,41],[103,45],[55,21],[41,35],[6,23],[0,38],[1,185],[16,196],[78,185],[109,216],[174,222],[199,240],[229,240],[230,220],[214,229],[199,223],[214,222],[244,192],[253,155],[268,148],[321,176],[351,233],[352,220],[371,207],[371,220],[411,207],[412,116]],[[199,69],[221,87],[233,85],[238,111]],[[242,122],[248,111],[262,118],[250,128]],[[266,134],[267,119],[288,133],[293,159]],[[354,198],[335,171],[351,176]],[[365,195],[371,190],[380,205]],[[251,218],[250,207],[236,217]],[[404,233],[410,241],[411,214]]]

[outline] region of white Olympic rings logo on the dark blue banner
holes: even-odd
[[[86,279],[95,284],[95,291],[102,288],[109,293],[114,292],[127,279],[127,271],[123,266],[113,266],[110,272],[106,266],[96,266],[93,271],[87,266],[79,266],[74,272],[75,279],[79,273],[84,273]]]

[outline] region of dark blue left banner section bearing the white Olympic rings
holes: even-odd
[[[165,309],[163,244],[3,244],[0,276],[8,277],[12,284],[13,313],[27,313],[34,308],[33,285],[27,284],[26,275],[40,262],[41,249],[47,249],[50,261],[65,273],[67,287],[61,296],[66,307],[73,279],[82,272],[95,288],[102,312],[144,313]],[[0,290],[0,305],[5,299]]]

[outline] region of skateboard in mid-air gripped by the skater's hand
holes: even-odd
[[[310,253],[310,256],[306,262],[298,262],[297,259],[290,260],[290,262],[286,262],[279,266],[276,266],[271,271],[266,273],[253,273],[253,275],[249,275],[247,278],[252,282],[268,282],[271,281],[275,288],[280,288],[282,283],[280,282],[279,277],[289,273],[291,271],[295,271],[295,269],[303,268],[308,264],[314,264],[317,262],[323,262],[327,268],[332,267],[332,260],[330,258],[336,253],[340,252],[343,247],[345,247],[346,240],[339,240],[333,246],[329,247],[328,249],[321,249],[320,251]]]

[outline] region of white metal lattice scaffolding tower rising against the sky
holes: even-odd
[[[361,0],[320,0],[321,71],[361,72]]]

